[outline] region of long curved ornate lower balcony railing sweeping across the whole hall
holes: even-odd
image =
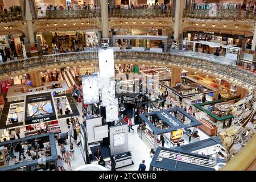
[[[197,57],[172,55],[171,53],[137,51],[114,52],[114,57],[115,60],[120,61],[147,61],[148,63],[152,64],[164,64],[196,69],[198,71],[207,72],[209,74],[229,79],[241,85],[247,85],[247,87],[255,86],[256,82],[256,75],[252,72],[237,68],[234,65],[216,63],[214,61],[200,59]],[[92,61],[97,61],[97,59],[97,51],[60,53],[56,55],[31,57],[28,59],[12,61],[10,63],[4,63],[0,65],[0,77],[4,75],[11,76],[13,73],[15,74],[15,72],[21,69],[25,69],[25,71],[28,72],[31,70],[31,68],[36,67],[46,68],[49,65],[61,65],[61,63],[77,64],[76,61],[79,61],[80,63],[92,63]]]

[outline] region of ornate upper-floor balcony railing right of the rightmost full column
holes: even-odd
[[[183,11],[184,18],[196,18],[196,19],[247,19],[254,20],[255,15],[253,10],[222,10],[222,9],[184,9]]]

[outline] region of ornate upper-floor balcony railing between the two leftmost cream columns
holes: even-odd
[[[76,19],[76,18],[100,18],[100,10],[46,10],[46,14],[37,11],[39,19]]]

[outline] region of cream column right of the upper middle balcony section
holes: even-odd
[[[174,39],[179,40],[184,0],[175,1]]]

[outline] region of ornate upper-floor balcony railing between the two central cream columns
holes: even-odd
[[[155,10],[144,10],[144,9],[132,9],[132,10],[109,10],[109,16],[113,18],[173,18],[175,16],[174,11],[171,9],[162,11],[159,9]]]

